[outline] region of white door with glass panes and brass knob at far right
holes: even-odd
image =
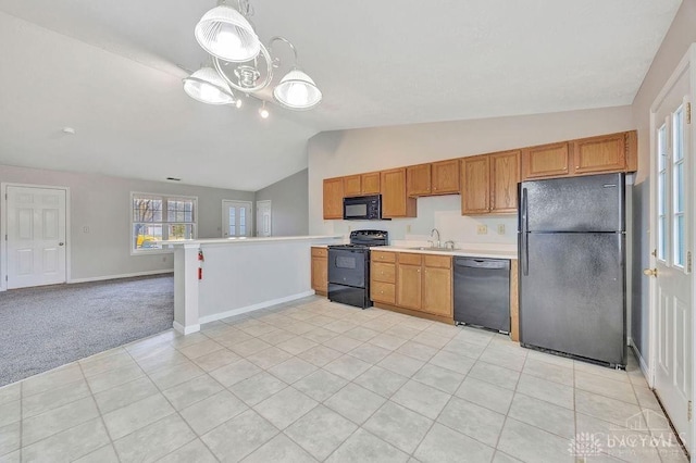
[[[686,448],[692,448],[692,220],[693,172],[688,67],[671,80],[654,107],[655,183],[651,226],[656,249],[650,285],[655,391]]]

